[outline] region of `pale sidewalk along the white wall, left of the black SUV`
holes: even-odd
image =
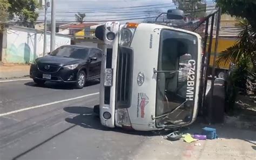
[[[0,79],[21,78],[29,76],[28,64],[2,64],[0,65]]]

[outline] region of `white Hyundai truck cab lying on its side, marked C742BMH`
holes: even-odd
[[[113,21],[97,27],[96,37],[104,41],[102,125],[158,130],[196,120],[202,53],[199,34],[164,25]]]

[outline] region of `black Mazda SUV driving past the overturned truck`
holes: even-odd
[[[31,64],[30,77],[39,85],[45,81],[75,83],[83,88],[86,80],[100,78],[103,52],[98,48],[66,45]]]

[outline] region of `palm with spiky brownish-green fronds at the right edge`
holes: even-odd
[[[256,34],[246,19],[240,20],[236,26],[240,29],[237,43],[221,52],[217,64],[235,63],[232,74],[235,86],[255,92]]]

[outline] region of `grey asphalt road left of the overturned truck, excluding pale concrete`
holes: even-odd
[[[0,81],[0,159],[133,159],[151,133],[100,125],[99,84]]]

